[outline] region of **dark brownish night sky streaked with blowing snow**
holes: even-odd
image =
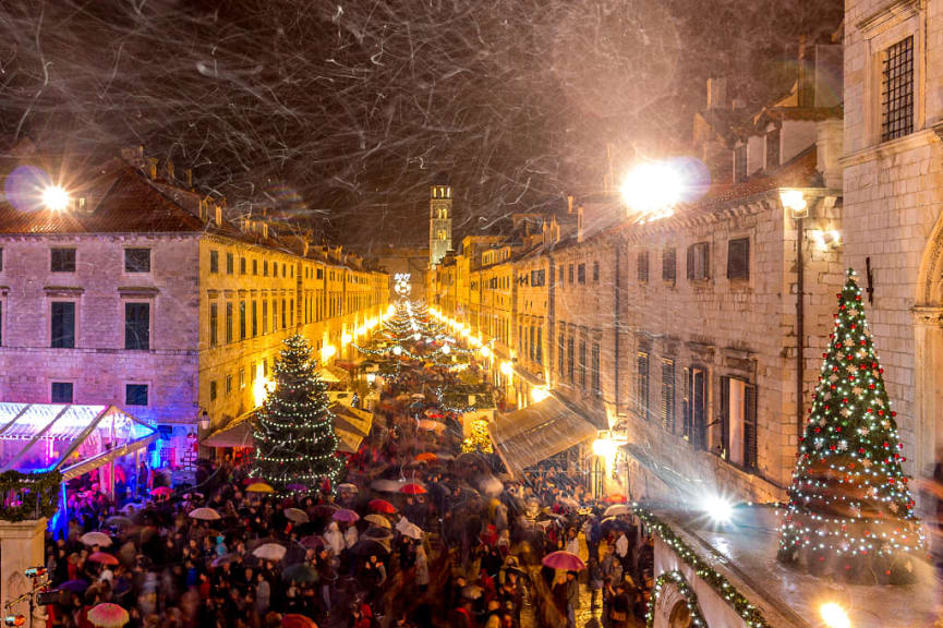
[[[460,232],[684,150],[704,78],[788,90],[841,0],[4,0],[0,136],[88,164],[144,144],[240,213],[278,204],[364,253]],[[73,157],[73,161],[75,158]]]

